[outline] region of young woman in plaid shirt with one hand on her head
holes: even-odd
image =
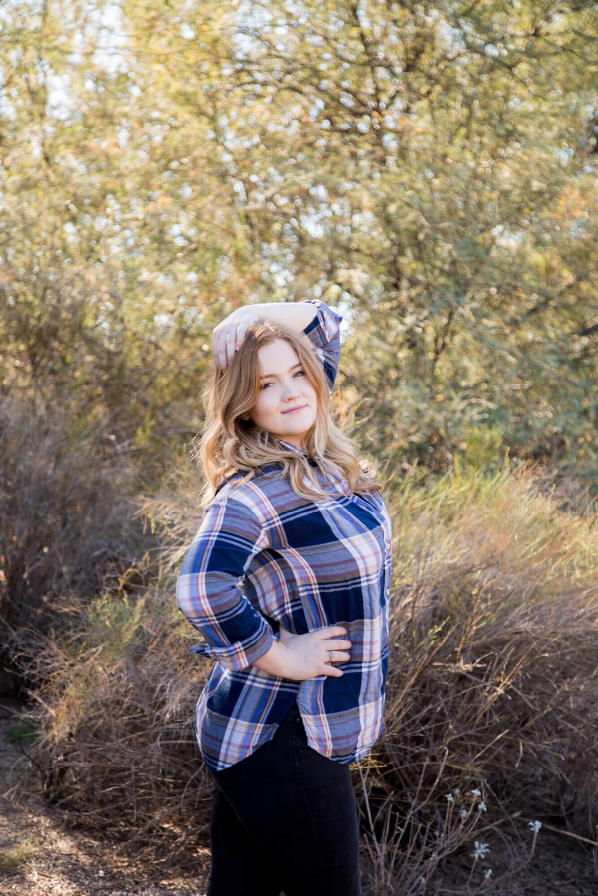
[[[177,586],[215,660],[195,711],[208,896],[360,896],[349,766],[382,730],[392,530],[330,417],[341,321],[252,305],[212,335],[204,521]]]

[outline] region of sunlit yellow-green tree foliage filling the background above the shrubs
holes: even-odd
[[[594,9],[11,8],[4,396],[149,459],[201,427],[214,323],[321,296],[366,450],[449,470],[489,427],[595,482]]]

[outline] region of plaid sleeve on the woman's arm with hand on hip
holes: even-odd
[[[208,504],[177,581],[178,608],[204,636],[189,652],[238,670],[270,650],[272,627],[238,587],[263,547],[263,526],[245,504],[230,497]]]

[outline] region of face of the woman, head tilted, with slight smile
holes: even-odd
[[[289,342],[274,339],[257,352],[260,391],[248,416],[274,438],[303,449],[303,436],[316,422],[317,393]]]

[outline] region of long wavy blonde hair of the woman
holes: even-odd
[[[286,340],[295,349],[316,390],[316,420],[304,438],[308,456],[286,451],[267,430],[247,418],[260,389],[262,371],[257,352],[275,339]],[[202,507],[231,477],[242,474],[237,483],[242,485],[256,475],[258,468],[273,463],[282,465],[281,476],[290,478],[290,485],[298,495],[311,501],[325,500],[329,495],[318,484],[316,468],[309,464],[308,457],[316,461],[325,478],[331,478],[331,471],[344,478],[351,493],[382,487],[376,481],[372,463],[360,456],[351,439],[331,419],[331,396],[324,369],[313,343],[304,333],[291,332],[273,321],[252,323],[229,366],[224,371],[213,366],[203,401],[204,431],[195,442],[195,459],[206,479],[201,493]]]

